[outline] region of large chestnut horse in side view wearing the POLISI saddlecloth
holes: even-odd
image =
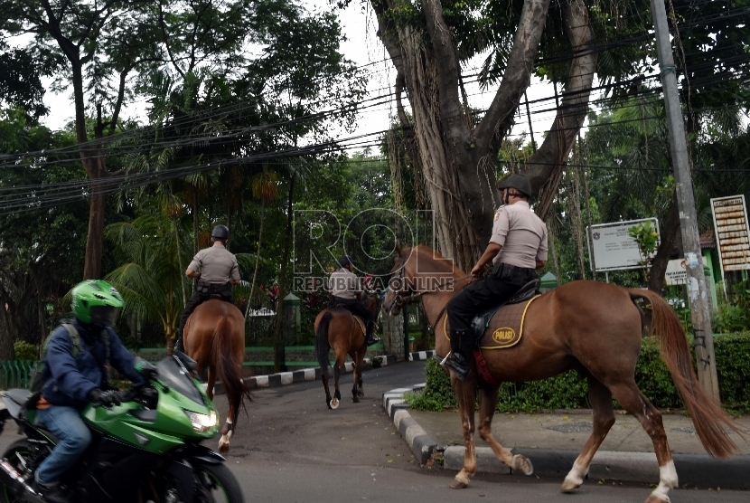
[[[405,298],[421,297],[427,318],[436,327],[437,356],[450,351],[450,333],[445,305],[468,280],[464,272],[426,246],[397,249],[398,258],[383,307],[398,313]],[[417,267],[418,263],[418,267]],[[443,288],[435,288],[435,285]],[[428,287],[432,286],[432,289]],[[506,349],[483,351],[487,369],[497,382],[545,379],[567,370],[577,370],[588,380],[588,394],[594,410],[594,428],[583,451],[562,484],[564,492],[576,490],[588,472],[595,451],[614,424],[612,397],[641,422],[653,442],[659,461],[660,483],[647,503],[668,502],[677,487],[677,472],[670,454],[661,413],[635,384],[645,324],[642,308],[634,301],[644,299],[652,309],[652,333],[659,340],[661,358],[680,389],[700,441],[708,454],[725,458],[736,450],[723,428],[738,432],[731,419],[703,394],[693,371],[690,349],[680,319],[658,294],[644,289],[624,289],[595,281],[573,281],[542,295],[527,310],[520,342]],[[442,320],[442,321],[441,321]],[[438,322],[440,322],[438,324]],[[493,319],[490,329],[497,327]],[[474,407],[479,390],[479,434],[502,463],[527,475],[530,461],[503,448],[492,437],[491,423],[500,384],[488,384],[472,363],[465,381],[451,373],[464,429],[464,467],[451,484],[465,488],[476,470]],[[738,432],[739,433],[739,432]]]

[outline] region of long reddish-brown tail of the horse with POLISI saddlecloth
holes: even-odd
[[[700,388],[698,377],[693,370],[688,339],[685,337],[680,318],[677,318],[670,305],[661,299],[658,293],[644,289],[629,289],[628,291],[631,299],[643,298],[651,302],[650,335],[657,335],[661,359],[667,365],[672,380],[680,390],[682,401],[688,409],[703,447],[711,456],[729,457],[736,451],[737,446],[725,433],[725,427],[739,433],[740,436],[743,436],[742,432],[732,423],[729,415],[710,400]]]

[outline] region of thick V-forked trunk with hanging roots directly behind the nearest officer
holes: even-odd
[[[423,0],[426,33],[398,26],[387,14],[398,0],[372,0],[379,36],[398,79],[406,84],[430,205],[435,214],[439,250],[469,270],[492,232],[500,197],[495,188],[494,157],[511,127],[520,96],[529,85],[549,0],[527,0],[505,76],[490,109],[476,128],[458,94],[460,65],[438,0]],[[400,81],[398,82],[400,84]],[[400,100],[400,85],[397,106]],[[405,114],[399,107],[398,116]]]

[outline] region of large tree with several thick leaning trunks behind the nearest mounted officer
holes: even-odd
[[[418,162],[436,213],[439,247],[460,267],[470,267],[489,241],[492,213],[500,204],[494,159],[529,85],[549,2],[449,5],[423,0],[417,5],[373,0],[371,5],[378,16],[380,39],[397,69],[398,117],[416,138]],[[511,13],[515,33],[505,26],[506,13]],[[558,15],[574,57],[568,58],[572,61],[567,66],[566,93],[555,127],[530,161],[535,190],[567,160],[586,117],[595,71],[595,52],[590,50],[594,33],[585,5],[564,4]],[[492,52],[483,69],[485,81],[499,80],[498,70],[504,71],[492,105],[479,118],[468,107],[461,62],[483,51]],[[405,90],[411,119],[401,102]],[[556,186],[557,182],[549,185],[551,192]]]

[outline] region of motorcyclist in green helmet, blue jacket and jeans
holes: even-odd
[[[55,328],[45,354],[42,394],[35,404],[37,418],[60,441],[36,470],[34,479],[46,501],[70,501],[61,487],[62,474],[79,459],[91,442],[89,428],[80,417],[87,403],[119,405],[129,392],[108,388],[107,366],[134,383],[156,374],[155,367],[131,355],[112,328],[123,299],[106,281],[86,280],[72,291],[72,325]],[[78,342],[74,342],[74,341]],[[75,345],[75,347],[74,347]]]

